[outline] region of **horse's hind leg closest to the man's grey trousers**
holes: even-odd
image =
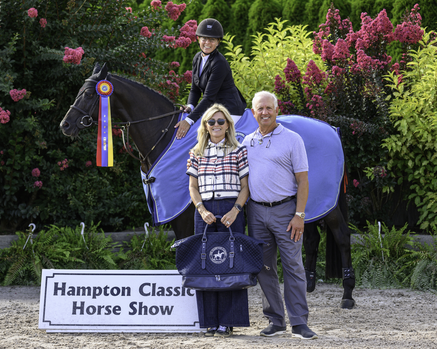
[[[317,223],[305,223],[305,229],[302,235],[302,243],[305,248],[306,291],[312,292],[315,290],[317,282],[316,263],[320,242],[320,234],[317,230]]]

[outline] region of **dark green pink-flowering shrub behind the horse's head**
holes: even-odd
[[[31,220],[38,229],[101,220],[111,231],[149,219],[139,163],[122,149],[119,134],[114,134],[114,167],[96,168],[97,128],[82,130],[73,140],[59,130],[96,62],[108,62],[110,71],[135,76],[174,96],[161,84],[171,66],[149,55],[169,47],[163,35],[178,36],[179,31],[161,26],[167,18],[165,3],[162,9],[146,7],[136,14],[125,8],[129,6],[126,1],[101,0],[3,3],[1,230],[23,229]],[[142,27],[149,34],[143,30],[146,36],[141,35]],[[64,58],[65,47],[76,56]],[[181,91],[184,86],[182,82]]]

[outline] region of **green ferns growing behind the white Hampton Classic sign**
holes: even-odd
[[[28,240],[29,232],[17,232],[19,239],[0,250],[0,284],[38,285],[42,269],[51,268],[175,269],[175,253],[170,251],[172,243],[166,241],[163,226],[159,233],[152,229],[148,236],[132,236],[126,252],[121,244],[112,242],[111,236],[98,232],[97,227],[91,223],[82,237],[80,226],[72,229],[52,225],[33,236],[33,243]]]

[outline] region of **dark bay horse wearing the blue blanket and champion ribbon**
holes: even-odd
[[[79,131],[89,123],[91,116],[93,120],[98,120],[98,100],[96,83],[107,79],[114,86],[111,95],[111,114],[122,122],[132,122],[149,117],[160,116],[171,113],[175,109],[173,103],[160,93],[149,89],[137,82],[121,78],[108,73],[106,63],[100,68],[97,63],[91,75],[80,89],[73,106],[70,107],[66,116],[61,121],[62,132],[69,137],[75,137]],[[171,123],[170,121],[173,120]],[[170,126],[168,126],[170,123]],[[165,116],[159,119],[132,124],[130,135],[134,140],[135,146],[144,157],[141,168],[147,173],[150,166],[159,157],[161,152],[170,143],[173,136],[174,126],[177,117]],[[168,128],[169,132],[164,132]],[[156,141],[160,142],[153,148]],[[151,151],[151,149],[153,150]],[[344,178],[343,178],[344,181]],[[341,184],[343,188],[343,182]],[[177,240],[194,234],[194,205],[191,204],[170,224],[176,234]],[[345,191],[340,191],[338,205],[329,212],[323,219],[327,226],[326,241],[326,277],[343,278],[343,298],[341,308],[353,308],[355,301],[352,298],[352,291],[355,286],[354,271],[350,255],[350,230],[347,226],[347,204],[345,201]],[[320,235],[317,230],[317,222],[305,223],[305,233],[303,234],[303,245],[305,247],[305,271],[307,277],[307,291],[312,292],[316,287],[316,260],[319,247]]]

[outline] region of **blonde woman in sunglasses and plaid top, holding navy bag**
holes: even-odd
[[[194,233],[208,231],[245,232],[243,206],[249,197],[246,147],[235,137],[229,111],[215,103],[202,116],[198,143],[190,152],[190,195],[196,205]],[[218,220],[215,216],[222,216]],[[207,336],[229,337],[233,327],[248,327],[247,289],[196,291],[201,328]]]

